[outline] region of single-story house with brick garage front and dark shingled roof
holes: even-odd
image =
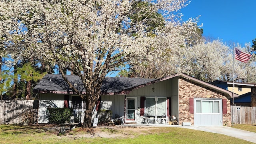
[[[67,78],[83,89],[78,76],[67,75]],[[112,110],[113,116],[124,116],[125,123],[141,123],[146,112],[154,118],[164,113],[167,120],[174,115],[179,125],[182,122],[191,122],[195,126],[231,125],[228,99],[232,92],[183,73],[157,80],[107,77],[101,90],[100,109]],[[72,92],[61,75],[47,74],[33,91],[39,93],[38,123],[48,122],[46,109],[49,106],[71,107],[74,115],[84,112],[84,102]],[[237,94],[234,96],[238,97]]]

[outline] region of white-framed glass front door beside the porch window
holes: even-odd
[[[126,99],[126,122],[135,122],[136,98]]]

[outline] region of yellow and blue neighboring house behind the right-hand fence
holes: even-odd
[[[212,82],[211,84],[233,92],[233,83],[232,82],[216,80],[216,81]],[[239,97],[234,98],[234,105],[251,106],[251,101],[252,101],[251,87],[254,85],[255,84],[252,84],[252,83],[235,82],[234,83],[234,93],[238,94]],[[231,98],[230,103],[232,104],[232,102],[233,102],[233,100]]]

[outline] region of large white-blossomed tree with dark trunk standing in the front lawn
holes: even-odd
[[[153,50],[162,54],[162,39],[175,41],[175,44],[173,41],[168,44],[173,49],[180,45],[179,42],[185,44],[177,20],[182,14],[174,13],[188,4],[186,0],[148,0],[145,2],[150,4],[135,8],[140,2],[2,0],[1,41],[6,52],[18,56],[15,59],[26,57],[57,64],[70,88],[85,100],[83,126],[90,127],[102,80],[108,72],[122,68],[127,62],[137,61],[134,58],[157,58],[156,53],[148,55],[148,52]],[[145,16],[145,11],[148,16]],[[160,18],[151,16],[150,12],[161,12],[166,29],[148,32],[149,24],[156,26]],[[86,94],[67,80],[64,75],[67,68],[80,76]]]

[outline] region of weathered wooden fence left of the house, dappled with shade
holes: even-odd
[[[0,100],[0,124],[36,124],[38,100]]]

